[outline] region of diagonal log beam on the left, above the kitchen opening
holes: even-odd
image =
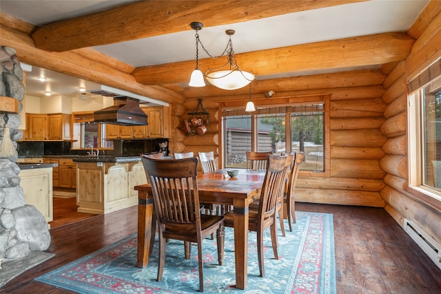
[[[20,61],[83,78],[117,89],[126,90],[167,103],[181,103],[184,97],[161,86],[137,83],[134,76],[112,66],[114,60],[94,50],[72,50],[70,52],[47,52],[35,48],[30,36],[12,30],[0,23],[0,45],[14,48]],[[123,67],[121,64],[118,67]]]

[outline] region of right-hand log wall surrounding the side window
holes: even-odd
[[[438,7],[438,16],[420,34],[411,54],[384,81],[382,101],[387,106],[384,109],[384,123],[380,127],[382,136],[386,138],[382,145],[385,155],[380,160],[380,168],[386,172],[386,186],[380,191],[381,198],[386,202],[384,209],[402,227],[404,219],[413,220],[438,242],[441,242],[441,212],[407,191],[407,81],[409,74],[422,70],[420,67],[428,59],[440,55],[440,10]]]

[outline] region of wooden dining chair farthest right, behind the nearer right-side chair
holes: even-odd
[[[296,223],[296,182],[298,171],[300,171],[300,165],[302,164],[304,157],[305,154],[303,152],[296,152],[294,154],[293,165],[291,168],[291,173],[289,174],[288,185],[283,198],[283,203],[285,203],[287,207],[289,231],[292,231],[292,223]]]

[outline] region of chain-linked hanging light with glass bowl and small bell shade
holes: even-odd
[[[203,87],[205,83],[203,83],[203,76],[205,79],[212,85],[223,89],[223,90],[237,90],[242,87],[245,87],[256,78],[254,74],[251,72],[245,72],[244,70],[240,70],[236,63],[236,59],[234,59],[234,50],[233,50],[233,42],[232,35],[234,34],[234,30],[226,30],[225,33],[229,36],[227,47],[223,51],[220,56],[215,57],[209,54],[207,50],[204,48],[203,43],[199,39],[198,30],[202,30],[203,23],[193,22],[190,26],[196,30],[196,69],[192,73],[192,77],[190,78],[190,86],[193,87]],[[217,68],[216,70],[208,69],[205,72],[205,75],[202,74],[201,70],[198,68],[198,44],[201,43],[203,50],[208,54],[208,56],[218,59],[221,56],[227,54],[228,60],[227,63]],[[222,70],[226,67],[225,70]],[[198,78],[198,79],[196,79]],[[203,85],[202,85],[202,83]]]

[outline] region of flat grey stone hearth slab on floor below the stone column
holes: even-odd
[[[34,266],[49,260],[55,256],[54,253],[46,253],[43,251],[32,251],[28,256],[20,260],[11,260],[9,262],[1,262],[0,269],[0,288],[7,282],[17,277],[21,273],[32,269]]]

